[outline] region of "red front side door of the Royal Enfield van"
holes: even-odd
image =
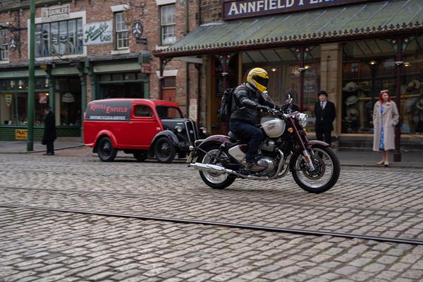
[[[145,104],[133,104],[130,126],[132,128],[131,147],[149,149],[154,136],[163,128],[153,109]]]

